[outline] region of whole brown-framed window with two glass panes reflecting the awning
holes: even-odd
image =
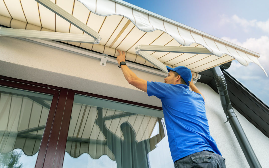
[[[0,167],[171,167],[162,117],[158,107],[0,76]]]

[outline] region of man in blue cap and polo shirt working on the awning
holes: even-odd
[[[194,85],[191,71],[183,66],[174,69],[167,66],[169,73],[164,83],[148,82],[128,68],[125,52],[118,52],[119,67],[129,84],[162,101],[175,168],[225,167],[225,159],[209,133],[204,96]]]

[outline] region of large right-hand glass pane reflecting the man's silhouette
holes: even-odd
[[[150,167],[149,153],[165,129],[149,113],[160,110],[76,94],[63,167]],[[168,142],[164,146],[169,151]]]

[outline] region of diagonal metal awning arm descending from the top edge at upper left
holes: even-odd
[[[99,34],[91,29],[89,26],[78,20],[76,17],[71,15],[70,13],[66,12],[64,9],[60,8],[58,5],[55,3],[51,2],[50,0],[35,0],[41,5],[45,6],[52,12],[56,13],[57,15],[61,16],[63,19],[68,21],[69,23],[73,24],[80,30],[84,31],[86,34],[90,35],[91,37],[94,38],[94,44],[99,44],[101,37]]]

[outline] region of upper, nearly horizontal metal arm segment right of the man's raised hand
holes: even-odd
[[[136,47],[140,51],[156,51],[156,52],[178,52],[193,54],[209,54],[212,53],[206,48],[201,47],[178,47],[178,46],[162,46],[162,45],[139,45]]]

